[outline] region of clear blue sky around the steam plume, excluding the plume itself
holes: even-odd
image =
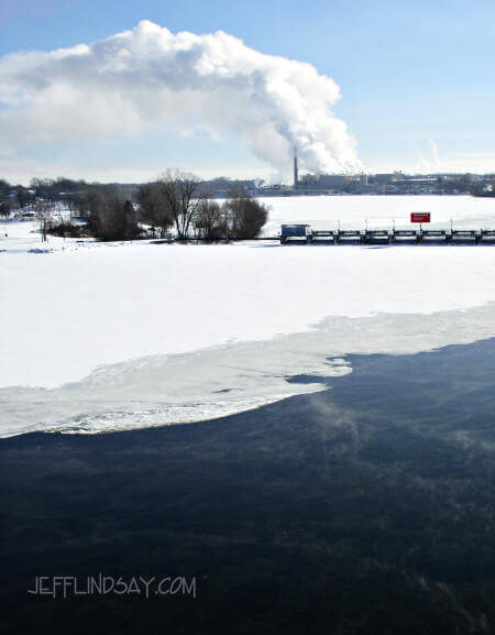
[[[330,76],[342,95],[333,110],[366,171],[495,172],[493,1],[0,0],[0,15],[2,55],[91,43],[143,19],[174,33],[223,30]],[[274,172],[235,132],[212,139],[170,128],[63,149],[47,140],[16,160],[20,178],[23,169],[41,176],[45,163],[52,175],[64,162],[67,174],[94,178],[151,178],[168,166],[232,176]]]

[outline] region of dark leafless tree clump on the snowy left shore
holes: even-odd
[[[7,199],[9,191],[12,186],[0,182],[6,214],[13,198],[10,194]],[[255,238],[268,214],[266,206],[250,196],[245,187],[233,186],[220,205],[210,198],[205,182],[179,171],[168,171],[157,180],[138,186],[132,193],[135,204],[129,187],[65,178],[32,179],[29,189],[15,186],[14,191],[18,206],[34,214],[48,232],[75,237],[86,233],[107,241],[133,240],[143,234],[163,238],[172,228],[182,240]],[[57,202],[70,216],[81,219],[84,226],[50,221]]]

